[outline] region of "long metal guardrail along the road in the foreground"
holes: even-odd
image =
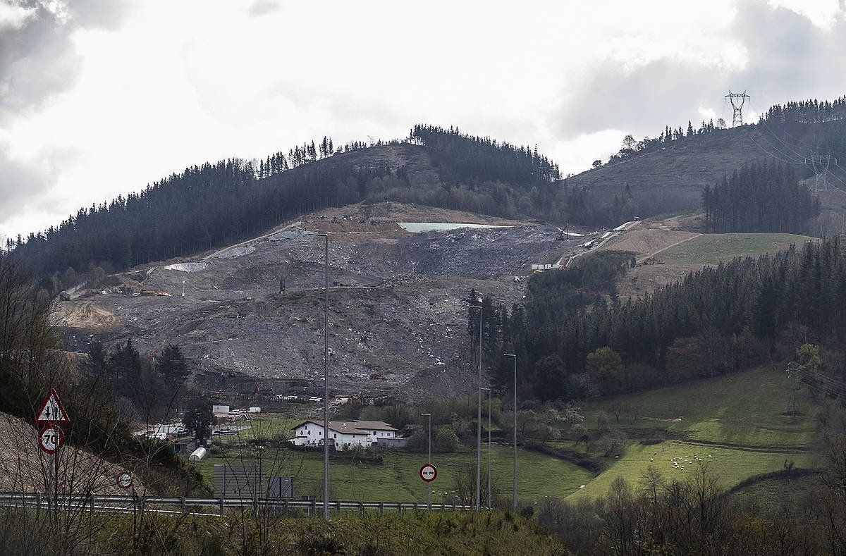
[[[283,513],[288,510],[309,510],[316,515],[317,510],[323,507],[322,500],[295,500],[295,499],[267,499],[267,498],[189,498],[189,497],[167,497],[167,496],[129,496],[116,494],[60,494],[58,499],[51,499],[41,493],[0,493],[0,506],[27,507],[36,510],[89,510],[91,512],[101,511],[110,513],[132,513],[140,508],[144,511],[153,511],[167,514],[192,514],[192,515],[225,515],[227,508],[250,508],[254,511],[261,509],[275,509]],[[161,510],[165,507],[179,507],[179,510]],[[202,508],[213,507],[217,513],[196,511]],[[330,501],[329,509],[340,512],[341,510],[378,510],[380,514],[385,510],[427,510],[425,502],[344,502]],[[436,511],[470,511],[474,510],[472,505],[464,504],[431,504],[431,510]]]

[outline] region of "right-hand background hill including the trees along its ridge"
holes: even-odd
[[[827,190],[821,194],[823,216],[818,233],[841,229],[846,194],[846,96],[836,101],[798,101],[772,106],[757,123],[736,128],[721,124],[688,123],[667,126],[655,137],[627,137],[618,154],[596,161],[588,172],[567,177],[564,183],[585,188],[589,196],[612,199],[624,195],[628,186],[631,202],[622,212],[650,215],[679,210],[700,210],[703,189],[714,187],[723,177],[752,162],[780,162],[805,179],[814,169],[805,163],[812,154],[833,155],[839,166],[828,168]],[[833,187],[832,187],[833,186]],[[838,213],[832,222],[828,213]]]

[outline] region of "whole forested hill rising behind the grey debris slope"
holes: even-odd
[[[415,126],[404,141],[323,138],[268,155],[190,166],[140,193],[81,208],[6,247],[55,290],[97,267],[124,270],[251,237],[288,218],[395,199],[490,215],[560,217],[558,167],[536,150]]]

